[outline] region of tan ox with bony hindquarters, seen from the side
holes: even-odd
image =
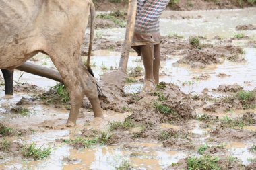
[[[91,0],[0,0],[0,69],[13,71],[38,52],[49,55],[69,91],[67,126],[75,125],[84,95],[102,117],[96,81],[79,55],[90,11]]]

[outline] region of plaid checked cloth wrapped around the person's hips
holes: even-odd
[[[170,0],[137,0],[135,32],[159,32],[160,15]]]

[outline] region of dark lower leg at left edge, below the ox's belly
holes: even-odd
[[[5,94],[13,95],[13,72],[2,69],[3,79],[5,80]]]

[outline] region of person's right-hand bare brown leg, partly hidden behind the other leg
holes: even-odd
[[[154,62],[153,62],[153,75],[155,83],[159,83],[159,67],[160,67],[160,44],[154,45]]]

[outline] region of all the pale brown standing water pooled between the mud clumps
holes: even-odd
[[[168,35],[176,33],[189,37],[193,34],[207,36],[209,38],[216,35],[222,37],[232,37],[237,32],[234,30],[238,24],[255,24],[256,9],[244,10],[223,10],[223,11],[166,11],[164,18],[160,21],[161,34]],[[190,16],[192,19],[168,19],[172,15]],[[201,17],[198,17],[201,16]],[[195,19],[194,19],[195,18]],[[171,28],[171,30],[170,30]],[[200,28],[200,29],[199,29]],[[193,32],[192,32],[193,30]],[[103,37],[109,40],[122,40],[124,29],[97,30],[102,32]],[[251,36],[255,40],[254,31],[243,31],[246,35]],[[96,78],[100,81],[100,76],[104,71],[115,69],[119,64],[120,52],[110,50],[100,50],[94,52],[92,57],[92,69]],[[201,93],[207,87],[208,89],[216,88],[221,84],[238,83],[244,89],[254,89],[256,86],[256,50],[255,48],[245,48],[246,63],[224,61],[221,65],[209,65],[205,69],[191,69],[186,65],[174,65],[174,62],[183,56],[168,56],[166,61],[162,61],[161,72],[166,76],[161,76],[160,81],[175,83],[181,87],[185,93]],[[139,57],[131,54],[129,58],[129,68],[137,65],[143,67],[142,62],[137,62]],[[53,64],[48,56],[38,54],[34,60],[38,65],[45,67],[53,67]],[[106,68],[107,70],[104,70]],[[210,79],[200,80],[193,79],[199,77],[202,73],[210,75]],[[226,73],[228,77],[217,77],[218,73]],[[241,79],[243,77],[243,79]],[[139,81],[142,77],[137,77]],[[16,83],[29,83],[49,89],[56,84],[56,81],[45,79],[29,73],[15,71],[14,76]],[[132,83],[126,85],[127,93],[134,93],[141,90],[142,83]],[[3,86],[0,87],[1,90]],[[5,96],[3,91],[0,93],[0,112],[9,110],[21,97],[30,98],[30,95],[24,92],[15,93],[13,96]],[[70,139],[79,135],[83,128],[106,130],[109,122],[123,121],[129,112],[120,114],[117,112],[104,111],[105,120],[94,119],[92,112],[82,109],[77,120],[77,127],[70,129],[65,128],[65,122],[69,114],[68,110],[61,108],[53,108],[36,103],[36,105],[25,105],[33,111],[29,117],[13,116],[11,114],[1,114],[0,120],[7,122],[10,126],[18,128],[32,128],[37,130],[35,134],[18,138],[22,143],[36,142],[37,146],[51,146],[53,151],[49,158],[42,161],[32,161],[30,159],[22,159],[21,157],[13,158],[6,157],[0,160],[0,169],[116,169],[122,163],[128,161],[134,169],[164,169],[172,163],[177,163],[179,159],[185,158],[188,155],[196,155],[196,150],[179,151],[168,148],[163,148],[161,143],[154,140],[133,143],[123,143],[118,146],[94,146],[76,150],[57,142],[56,139]],[[253,110],[255,111],[255,110]],[[243,111],[245,112],[245,111]],[[239,114],[240,112],[237,112]],[[220,115],[220,113],[218,113]],[[223,113],[223,116],[226,116]],[[241,114],[239,114],[241,115]],[[210,129],[200,128],[199,122],[191,122],[189,132],[199,136],[196,141],[198,145],[205,144],[205,138],[209,135]],[[181,130],[181,125],[160,124],[161,130]],[[255,131],[255,126],[247,126],[245,130]],[[125,146],[128,145],[129,147]],[[226,148],[229,155],[238,157],[243,161],[244,165],[249,164],[248,159],[256,157],[255,153],[251,153],[249,148],[252,143],[227,142]],[[69,158],[63,160],[63,158]]]

